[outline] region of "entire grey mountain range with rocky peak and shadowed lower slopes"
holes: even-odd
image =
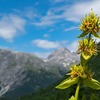
[[[46,88],[61,79],[75,59],[75,53],[66,48],[54,51],[45,61],[34,54],[0,49],[0,96],[11,100]]]

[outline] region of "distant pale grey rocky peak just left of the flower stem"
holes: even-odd
[[[79,55],[75,52],[71,53],[67,48],[59,48],[47,57],[47,61],[52,64],[59,64],[63,67],[68,67],[72,63],[79,62]]]

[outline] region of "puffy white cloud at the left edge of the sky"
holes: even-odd
[[[0,19],[0,37],[12,41],[13,38],[24,31],[25,20],[17,15],[4,15]]]

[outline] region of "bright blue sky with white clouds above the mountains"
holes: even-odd
[[[57,48],[77,50],[81,18],[100,0],[0,0],[0,48],[47,57]]]

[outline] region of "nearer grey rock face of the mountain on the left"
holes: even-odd
[[[4,90],[11,91],[17,86],[23,85],[28,80],[26,77],[29,70],[38,71],[43,67],[43,60],[35,55],[0,49],[1,95],[5,93]]]

